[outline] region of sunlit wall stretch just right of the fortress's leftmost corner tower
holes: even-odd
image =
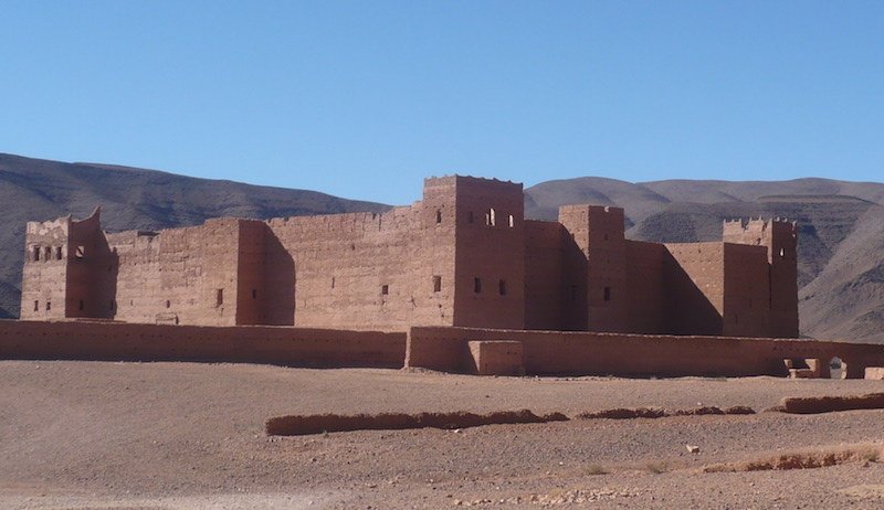
[[[116,319],[235,325],[239,238],[246,222],[214,219],[160,233],[109,234],[108,243],[119,257]]]

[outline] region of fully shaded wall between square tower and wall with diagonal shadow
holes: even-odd
[[[625,242],[627,323],[624,332],[666,331],[670,294],[664,278],[666,247],[657,243]]]

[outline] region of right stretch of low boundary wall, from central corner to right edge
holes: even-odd
[[[884,366],[884,346],[800,339],[676,337],[599,332],[519,331],[477,328],[411,328],[406,366],[476,373],[469,342],[523,344],[525,372],[622,376],[788,375],[785,359],[840,358],[846,376]]]

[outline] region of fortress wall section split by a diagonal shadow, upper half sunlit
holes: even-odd
[[[725,312],[724,243],[665,244],[666,331],[722,334]]]

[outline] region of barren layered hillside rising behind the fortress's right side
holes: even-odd
[[[580,178],[525,190],[530,217],[555,219],[559,205],[586,202],[624,208],[627,235],[656,242],[718,240],[725,219],[796,220],[802,333],[884,342],[882,183]]]

